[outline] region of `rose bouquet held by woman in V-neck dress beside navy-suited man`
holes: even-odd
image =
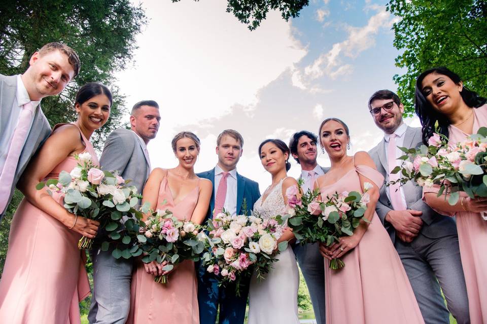
[[[199,261],[199,255],[204,249],[198,236],[200,225],[180,221],[168,210],[152,212],[146,204],[142,212],[150,216],[146,221],[140,221],[138,244],[133,247],[134,253],[145,254],[142,262],[166,262],[163,270],[170,271],[184,260]],[[167,275],[156,276],[154,281],[166,284]]]

